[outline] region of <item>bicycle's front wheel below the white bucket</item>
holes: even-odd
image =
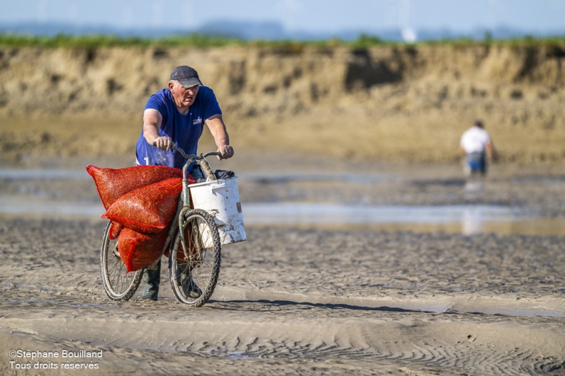
[[[189,210],[183,215],[183,228],[169,253],[170,286],[180,303],[201,307],[218,282],[220,235],[214,218],[205,210]]]

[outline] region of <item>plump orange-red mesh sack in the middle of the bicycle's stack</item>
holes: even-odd
[[[143,186],[118,198],[102,215],[140,233],[159,233],[175,215],[183,179],[170,178]]]

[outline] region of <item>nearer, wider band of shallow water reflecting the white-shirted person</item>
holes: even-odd
[[[70,203],[0,197],[0,214],[26,218],[100,218],[101,203]],[[565,235],[565,219],[532,218],[494,205],[341,205],[332,203],[244,203],[245,225],[372,228],[463,233]]]

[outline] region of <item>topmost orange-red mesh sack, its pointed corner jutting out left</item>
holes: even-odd
[[[169,178],[182,178],[183,171],[166,166],[131,166],[126,168],[100,168],[86,166],[86,171],[94,179],[98,195],[105,209],[118,200],[122,195],[158,181]],[[194,179],[188,176],[188,183]]]

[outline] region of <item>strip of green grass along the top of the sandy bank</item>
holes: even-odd
[[[350,46],[353,48],[367,48],[372,46],[417,46],[417,45],[452,45],[452,46],[565,46],[565,36],[536,39],[526,36],[520,39],[492,39],[487,33],[482,40],[474,39],[444,39],[440,41],[419,41],[416,44],[406,44],[395,41],[385,41],[378,36],[361,34],[355,41],[342,41],[340,39],[327,39],[324,41],[248,41],[228,36],[205,36],[202,34],[188,34],[185,36],[169,36],[161,39],[134,38],[111,35],[87,36],[26,36],[16,34],[0,34],[1,47],[45,47],[45,48],[96,48],[96,47],[220,47],[220,46],[257,46],[284,48],[288,51],[300,53],[305,46],[335,47]]]

